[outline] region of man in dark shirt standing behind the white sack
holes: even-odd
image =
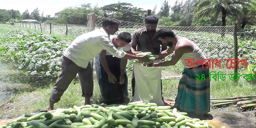
[[[135,30],[132,34],[132,52],[151,52],[154,55],[158,55],[162,51],[167,49],[165,44],[162,44],[158,39],[154,39],[157,28],[158,18],[155,16],[145,17],[146,27]],[[162,46],[162,48],[161,48]],[[135,78],[134,72],[132,72],[132,97],[134,96],[135,88]],[[161,90],[162,90],[162,81],[161,81]],[[163,92],[162,92],[163,94]],[[161,94],[161,95],[162,95]],[[162,97],[162,100],[164,98]]]

